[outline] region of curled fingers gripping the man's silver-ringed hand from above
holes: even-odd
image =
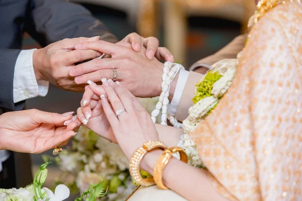
[[[134,51],[139,52],[141,47],[145,47],[145,56],[152,60],[156,57],[158,60],[174,62],[172,53],[165,47],[159,47],[159,40],[155,37],[144,38],[137,33],[128,34],[121,42],[131,43]],[[119,43],[117,43],[119,44]]]

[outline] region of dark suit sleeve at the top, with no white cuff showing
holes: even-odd
[[[25,29],[42,46],[64,38],[100,36],[117,42],[105,25],[84,7],[65,0],[33,0]]]

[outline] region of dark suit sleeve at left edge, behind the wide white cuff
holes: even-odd
[[[14,72],[21,50],[0,49],[0,108],[3,111],[21,110],[24,101],[14,104]]]

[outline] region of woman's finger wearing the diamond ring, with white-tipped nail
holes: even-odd
[[[111,106],[115,112],[124,110],[125,107],[123,106],[120,98],[117,96],[116,92],[112,88],[113,85],[116,85],[113,81],[105,81],[103,82],[103,87],[104,90],[108,96],[108,100],[111,103]],[[122,112],[119,116],[118,119],[125,119],[127,117],[126,112]]]

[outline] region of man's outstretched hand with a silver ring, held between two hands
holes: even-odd
[[[112,55],[112,58],[94,59],[74,66],[69,75],[75,77],[75,83],[84,84],[88,80],[99,82],[103,77],[113,78],[114,68],[117,80],[138,97],[155,97],[161,94],[162,73],[164,64],[156,58],[145,57],[145,49],[140,52],[131,49],[130,44],[121,45],[105,41],[84,42],[77,44],[77,50],[95,50]]]

